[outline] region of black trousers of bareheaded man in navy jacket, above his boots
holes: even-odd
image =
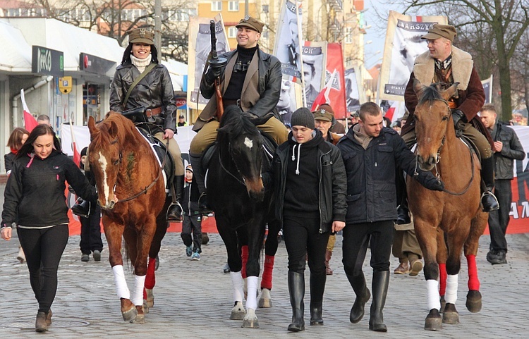
[[[373,271],[389,271],[389,255],[393,244],[394,222],[352,223],[343,228],[343,269],[349,276],[362,273],[362,266],[371,241]]]

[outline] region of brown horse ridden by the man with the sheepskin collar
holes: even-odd
[[[442,328],[442,323],[459,322],[455,302],[463,247],[469,278],[466,306],[470,312],[481,309],[475,255],[488,214],[480,207],[480,163],[469,147],[456,137],[447,103],[456,94],[458,83],[441,91],[436,85],[423,86],[418,80],[413,85],[419,99],[415,109],[418,166],[423,171],[433,171],[445,184],[444,192],[434,192],[416,180],[407,183],[415,233],[425,259],[430,309],[425,329],[435,331]],[[438,290],[439,271],[441,288]],[[442,318],[439,293],[446,300]]]

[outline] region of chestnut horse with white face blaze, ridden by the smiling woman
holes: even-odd
[[[121,114],[111,112],[97,125],[90,117],[88,128],[92,139],[88,160],[96,179],[121,314],[125,321],[143,323],[144,285],[146,304],[152,306],[154,261],[167,230],[162,169],[147,140]],[[132,298],[123,273],[122,238],[135,274]]]

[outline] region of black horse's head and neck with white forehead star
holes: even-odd
[[[265,198],[261,178],[262,141],[259,130],[250,118],[238,106],[226,107],[217,141],[221,152],[221,166],[245,185],[250,198],[262,202]],[[222,164],[225,159],[231,159],[231,166]]]

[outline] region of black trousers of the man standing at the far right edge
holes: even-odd
[[[507,226],[509,226],[509,212],[513,198],[511,180],[496,180],[494,182],[494,195],[498,199],[499,209],[489,213],[490,249],[507,252],[505,233]]]

